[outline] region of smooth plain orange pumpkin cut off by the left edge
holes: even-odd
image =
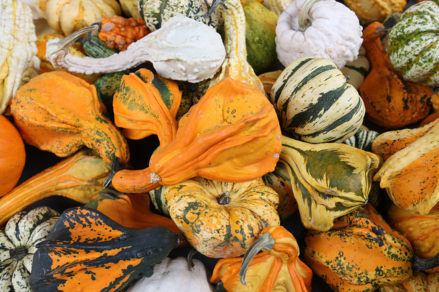
[[[0,197],[18,183],[25,162],[25,144],[19,131],[0,115]]]

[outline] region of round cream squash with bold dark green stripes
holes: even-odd
[[[274,82],[270,101],[284,133],[309,143],[346,140],[366,114],[358,91],[322,57],[302,57],[289,64]]]

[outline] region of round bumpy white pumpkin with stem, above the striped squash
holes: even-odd
[[[324,57],[340,69],[357,58],[361,31],[355,13],[340,2],[296,0],[278,18],[278,59],[286,67],[300,57]]]

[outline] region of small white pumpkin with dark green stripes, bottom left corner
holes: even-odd
[[[27,280],[36,244],[45,240],[60,214],[48,207],[13,215],[0,229],[0,291],[31,291]]]

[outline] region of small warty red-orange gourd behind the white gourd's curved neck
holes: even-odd
[[[150,32],[142,18],[114,16],[102,19],[101,29],[97,36],[106,42],[109,48],[126,51],[130,44],[140,40]]]

